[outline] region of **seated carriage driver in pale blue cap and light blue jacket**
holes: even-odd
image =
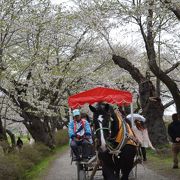
[[[86,119],[81,118],[79,109],[74,109],[72,115],[73,120],[69,122],[68,126],[70,147],[76,161],[81,160],[79,146],[82,146],[82,158],[88,159],[90,155],[89,144],[92,144],[90,124]]]

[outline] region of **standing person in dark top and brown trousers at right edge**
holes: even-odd
[[[168,126],[168,134],[172,141],[173,169],[178,168],[178,154],[180,152],[180,115],[172,115],[173,122]]]

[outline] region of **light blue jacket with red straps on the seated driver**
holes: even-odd
[[[75,124],[76,124],[76,127],[75,127]],[[86,137],[89,137],[89,140],[92,143],[92,139],[91,139],[92,134],[91,134],[90,124],[85,119],[82,119],[80,122],[77,122],[77,121],[74,122],[74,120],[70,120],[69,125],[68,125],[68,134],[69,134],[70,141],[74,137],[77,137],[77,136],[81,136],[81,137],[86,136]]]

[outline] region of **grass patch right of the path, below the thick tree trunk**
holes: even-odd
[[[180,179],[179,169],[172,169],[173,159],[171,153],[171,146],[166,145],[161,147],[157,152],[147,150],[148,161],[145,164],[155,172],[167,176],[170,180]],[[180,154],[178,156],[180,162]],[[180,163],[179,163],[180,165]]]

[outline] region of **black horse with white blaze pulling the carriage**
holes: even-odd
[[[137,152],[135,144],[128,144],[128,141],[132,141],[128,138],[121,141],[121,144],[116,142],[118,133],[122,131],[123,123],[118,121],[116,113],[109,104],[98,103],[96,107],[90,105],[89,108],[93,112],[98,156],[102,162],[104,179],[119,180],[121,170],[121,180],[128,180]],[[124,127],[126,128],[127,125],[125,124]]]

